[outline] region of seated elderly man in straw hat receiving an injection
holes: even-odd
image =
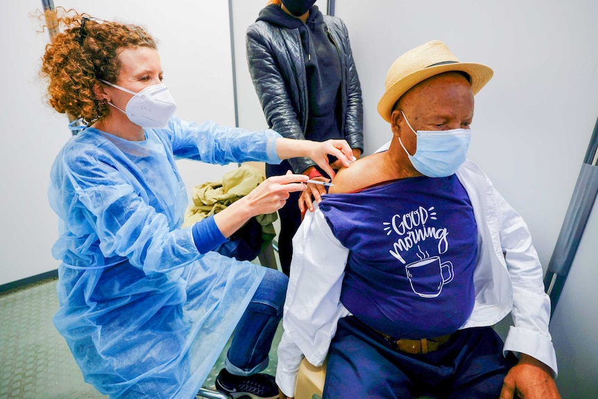
[[[393,139],[341,170],[293,239],[277,384],[325,357],[324,398],[560,398],[526,224],[466,160],[493,71],[433,41],[388,71]],[[511,312],[503,342],[492,326]]]

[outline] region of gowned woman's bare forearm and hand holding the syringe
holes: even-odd
[[[290,171],[284,176],[267,178],[249,194],[214,214],[216,226],[224,237],[230,237],[252,217],[279,210],[291,192],[305,189],[306,181],[307,176],[293,175]]]

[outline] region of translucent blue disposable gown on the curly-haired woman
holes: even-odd
[[[54,324],[99,391],[195,398],[264,269],[198,251],[180,228],[187,192],[175,160],[279,163],[277,137],[173,117],[143,142],[88,128],[62,148],[49,187],[62,261]]]

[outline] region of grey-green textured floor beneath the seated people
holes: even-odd
[[[83,382],[67,343],[52,324],[57,310],[55,279],[0,294],[0,399],[108,398]],[[279,326],[265,373],[275,373],[281,333]],[[227,349],[204,387],[214,387]]]

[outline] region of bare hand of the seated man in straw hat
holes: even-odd
[[[514,398],[561,399],[552,378],[552,370],[539,360],[522,353],[518,364],[504,377],[499,397]]]

